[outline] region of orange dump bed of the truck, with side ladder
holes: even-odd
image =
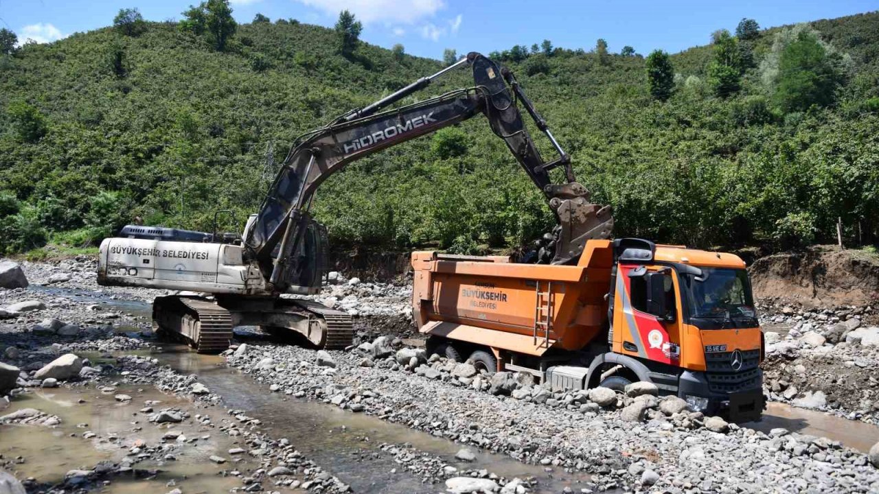
[[[534,356],[578,350],[606,326],[613,262],[607,240],[587,242],[578,265],[414,252],[413,311],[429,335]]]

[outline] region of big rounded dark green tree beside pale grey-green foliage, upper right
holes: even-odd
[[[844,79],[838,58],[828,54],[813,33],[801,31],[781,51],[775,102],[785,112],[830,105]]]

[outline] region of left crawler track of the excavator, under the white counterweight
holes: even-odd
[[[229,348],[232,316],[215,301],[197,297],[157,297],[153,323],[184,338],[199,353],[219,353]]]

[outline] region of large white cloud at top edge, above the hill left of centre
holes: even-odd
[[[445,0],[295,0],[329,16],[347,9],[364,24],[373,22],[414,24],[446,7]]]

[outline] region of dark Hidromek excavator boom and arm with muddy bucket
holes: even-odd
[[[388,105],[465,64],[473,69],[474,87],[380,113]],[[512,85],[515,97],[507,84]],[[515,105],[517,98],[556,147],[559,152],[556,161],[544,162],[534,147]],[[609,236],[613,226],[609,208],[599,209],[588,203],[585,188],[574,182],[570,159],[549,133],[546,121],[525,98],[512,73],[502,73],[495,62],[481,54],[470,53],[433,76],[422,77],[386,98],[346,113],[330,125],[301,136],[287,155],[244,240],[266,279],[279,291],[289,285],[291,273],[297,269],[297,260],[292,254],[298,251],[305,235],[310,222],[311,200],[324,179],[347,163],[468,120],[477,113],[487,117],[492,131],[505,140],[513,156],[546,195],[556,213],[560,226],[556,227],[553,264],[576,261],[586,236]],[[549,179],[548,171],[558,165],[565,168],[566,184],[554,185]]]

